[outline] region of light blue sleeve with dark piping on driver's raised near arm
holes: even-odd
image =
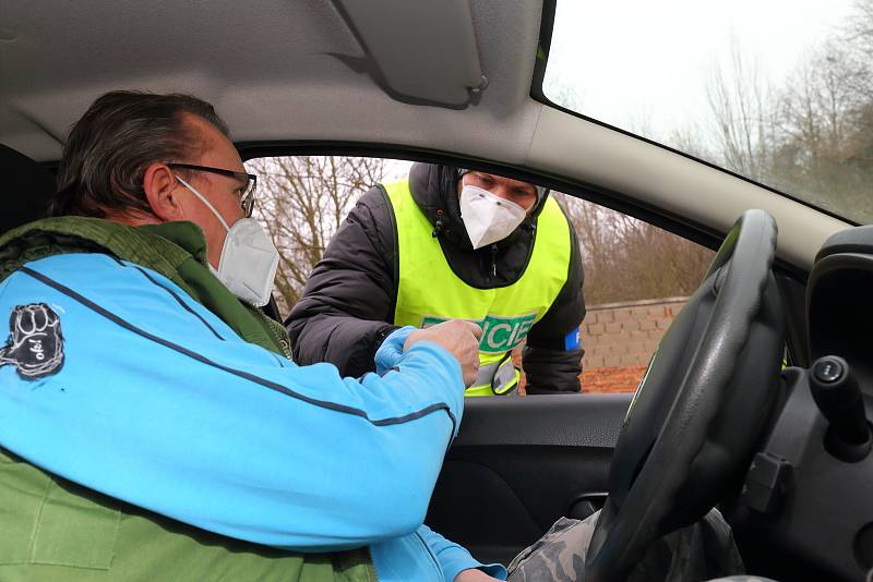
[[[0,365],[0,444],[111,497],[303,551],[408,535],[461,422],[461,368],[419,342],[360,381],[244,342],[166,278],[62,255],[0,283],[0,319],[45,303],[62,363]],[[174,289],[178,296],[168,293]]]

